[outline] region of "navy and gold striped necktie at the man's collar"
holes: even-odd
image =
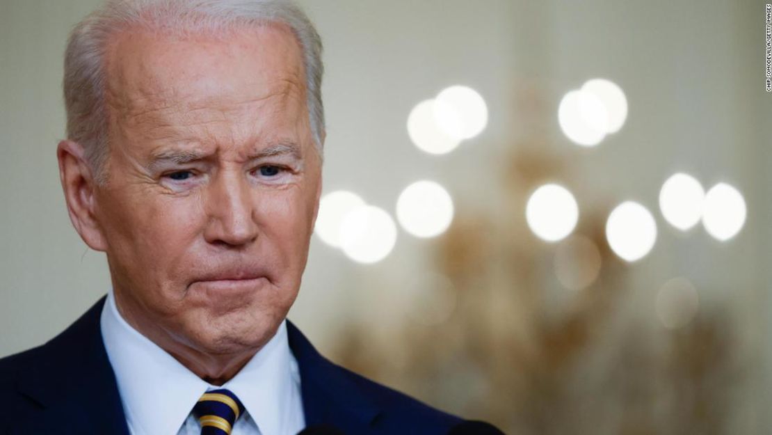
[[[198,399],[193,413],[201,423],[201,435],[230,435],[244,405],[227,389],[213,389]]]

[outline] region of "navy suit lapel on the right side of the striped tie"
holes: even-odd
[[[287,332],[289,348],[300,368],[306,426],[327,423],[345,433],[372,433],[371,424],[380,408],[361,392],[345,369],[324,359],[289,321]]]

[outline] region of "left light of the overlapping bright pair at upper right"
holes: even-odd
[[[571,90],[560,100],[557,110],[560,130],[575,144],[594,147],[608,130],[608,114],[594,93]]]

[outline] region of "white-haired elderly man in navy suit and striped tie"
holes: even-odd
[[[112,289],[0,360],[0,433],[460,423],[333,365],[285,320],[322,185],[320,51],[280,0],[113,0],[74,29],[59,172]]]

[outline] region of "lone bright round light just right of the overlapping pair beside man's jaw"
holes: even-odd
[[[438,236],[448,229],[453,220],[453,200],[448,191],[436,182],[415,182],[399,195],[397,219],[402,228],[413,236]]]

